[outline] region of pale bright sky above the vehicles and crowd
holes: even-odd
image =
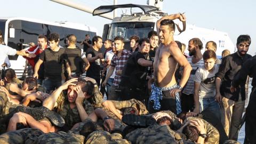
[[[71,1],[71,0],[70,0]],[[0,17],[27,17],[45,21],[70,21],[84,23],[98,29],[102,35],[103,25],[111,21],[71,7],[48,0],[0,0]],[[95,9],[100,5],[112,5],[112,0],[73,0],[79,5],[86,5]],[[142,4],[146,0],[119,0],[118,4]],[[215,28],[228,33],[232,42],[241,34],[251,36],[252,43],[249,53],[255,54],[256,46],[256,1],[253,0],[164,0],[163,11],[168,14],[186,12],[187,22],[197,27]]]

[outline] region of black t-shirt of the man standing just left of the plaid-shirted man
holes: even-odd
[[[95,57],[99,52],[95,51],[92,47],[90,47],[86,52],[86,57],[88,54],[92,54],[92,57]],[[90,67],[86,71],[86,76],[92,78],[99,78],[100,77],[100,59],[97,59],[93,62],[90,62]]]

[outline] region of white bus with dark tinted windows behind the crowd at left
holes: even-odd
[[[0,30],[2,31],[4,43],[13,49],[21,50],[29,47],[29,43],[37,44],[38,35],[49,35],[58,33],[60,35],[60,46],[66,45],[66,37],[74,34],[77,37],[77,46],[81,43],[86,34],[90,37],[97,35],[96,28],[72,22],[47,22],[42,20],[12,17],[0,18]],[[25,71],[26,59],[19,55],[9,56],[11,67],[18,77]]]

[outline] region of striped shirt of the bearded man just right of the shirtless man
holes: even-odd
[[[196,70],[198,68],[202,68],[202,66],[204,65],[203,58],[201,60],[199,60],[197,63],[192,63],[192,58],[193,57],[187,58],[188,62],[190,63],[190,65],[192,67],[192,70],[191,70],[190,76],[188,78],[188,82],[187,82],[186,86],[184,87],[184,90],[182,91],[182,93],[185,93],[187,95],[194,94],[194,79],[195,79]]]

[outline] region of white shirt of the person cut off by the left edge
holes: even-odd
[[[9,47],[7,45],[3,45],[0,44],[0,65],[4,64],[4,61],[6,59],[6,57],[8,57],[8,55],[15,55],[16,54],[16,50],[12,49],[12,47]],[[2,69],[2,67],[0,66],[0,69]]]

